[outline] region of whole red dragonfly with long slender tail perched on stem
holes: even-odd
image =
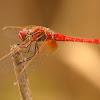
[[[26,57],[25,59],[23,59],[22,62],[20,62],[20,63],[27,62],[25,67],[23,68],[23,70],[25,70],[27,68],[27,66],[32,62],[32,60],[36,59],[46,47],[48,47],[50,49],[50,51],[52,51],[52,52],[56,51],[58,48],[57,41],[100,43],[100,39],[86,39],[86,38],[69,37],[69,36],[65,36],[60,33],[56,33],[54,31],[52,31],[51,29],[43,27],[43,26],[36,26],[36,25],[6,26],[3,28],[3,30],[9,29],[9,28],[20,29],[20,31],[18,32],[18,36],[19,36],[20,40],[22,41],[22,43],[17,44],[19,46],[19,48],[16,48],[14,51],[11,51],[7,55],[3,56],[0,59],[0,62],[15,51],[28,54],[31,51],[31,48],[33,45],[34,46],[34,49],[32,51],[33,54],[29,57]],[[24,49],[27,49],[27,51],[23,51]]]

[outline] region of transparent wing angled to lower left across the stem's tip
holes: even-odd
[[[19,45],[18,48],[16,48],[17,45],[13,45],[11,48],[13,50],[10,53],[3,56],[2,58],[0,58],[0,74],[5,74],[13,71],[13,61],[11,55],[14,52],[20,52],[24,50],[24,48],[27,47],[27,45],[29,45],[30,42],[31,41],[28,41],[27,43],[23,42],[22,44]]]

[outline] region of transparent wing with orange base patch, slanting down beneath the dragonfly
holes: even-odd
[[[41,64],[43,64],[47,60],[48,55],[51,55],[57,49],[57,47],[58,44],[54,40],[38,42],[39,49],[36,51],[36,54],[34,55],[35,44],[33,44],[31,52],[26,54],[26,56],[24,56],[24,57],[32,56],[32,53],[34,55],[31,60],[25,63],[24,69],[26,70],[27,74],[29,74],[30,72],[35,70],[35,68],[38,68]]]

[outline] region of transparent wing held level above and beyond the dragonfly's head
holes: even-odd
[[[19,42],[19,31],[24,28],[35,30],[38,26],[36,25],[29,25],[29,26],[5,26],[0,30],[0,35],[9,39],[11,43]]]

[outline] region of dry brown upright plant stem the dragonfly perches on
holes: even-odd
[[[18,46],[14,45],[12,46],[11,50],[14,50],[16,48],[18,48]],[[14,70],[16,74],[16,79],[18,81],[17,84],[18,84],[21,100],[32,100],[32,95],[29,88],[29,82],[25,70],[20,75],[20,72],[24,68],[23,63],[19,64],[23,60],[21,52],[15,51],[12,54],[12,58],[14,62]]]

